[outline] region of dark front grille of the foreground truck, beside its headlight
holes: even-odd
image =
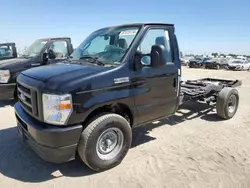
[[[18,82],[17,94],[22,108],[33,117],[39,118],[37,91]]]

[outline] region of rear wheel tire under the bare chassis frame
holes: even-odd
[[[230,108],[230,100],[234,98],[234,108]],[[235,88],[223,88],[217,97],[216,110],[217,115],[223,119],[231,119],[237,112],[239,106],[239,93]]]

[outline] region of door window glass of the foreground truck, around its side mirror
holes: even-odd
[[[143,54],[149,54],[153,45],[163,45],[165,47],[166,64],[174,64],[169,32],[166,29],[151,29],[147,32],[143,38],[141,44],[138,46],[138,51]],[[150,65],[150,56],[144,56],[142,58],[142,64]]]

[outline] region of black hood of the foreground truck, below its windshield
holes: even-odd
[[[22,74],[46,84],[65,84],[101,72],[106,67],[81,64],[53,64],[23,71]],[[49,82],[49,83],[48,83]]]

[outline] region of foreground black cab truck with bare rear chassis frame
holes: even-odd
[[[21,138],[44,160],[81,160],[94,171],[126,156],[132,128],[173,115],[186,101],[216,104],[232,118],[239,80],[181,81],[172,24],[138,23],[90,34],[60,64],[22,72],[15,104]]]

